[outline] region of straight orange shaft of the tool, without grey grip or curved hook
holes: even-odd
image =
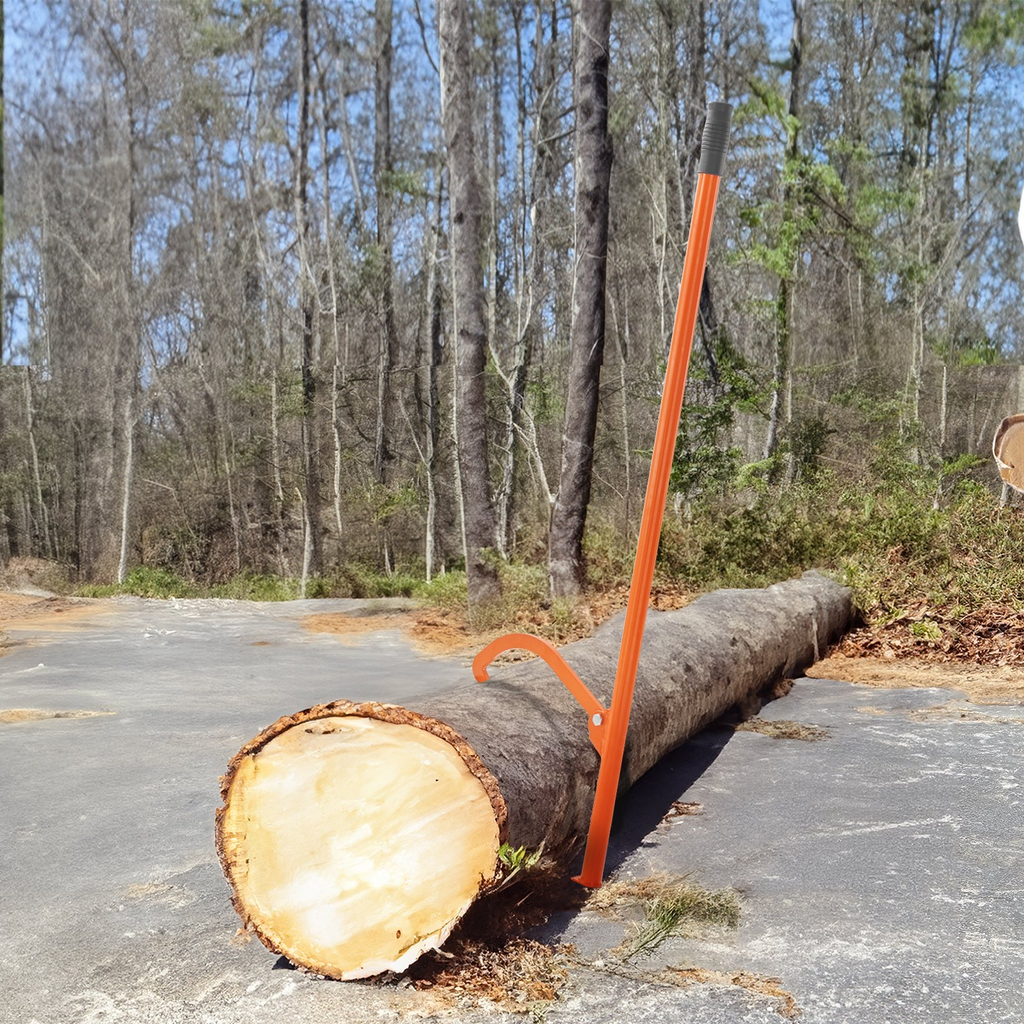
[[[654,452],[647,477],[647,495],[644,498],[643,517],[640,520],[640,538],[633,565],[633,581],[626,607],[626,625],[623,643],[618,649],[618,667],[615,670],[615,687],[611,696],[611,711],[605,724],[604,750],[601,770],[597,778],[597,795],[587,836],[587,853],[583,870],[574,881],[591,889],[601,885],[604,860],[611,834],[611,817],[615,809],[618,776],[623,768],[626,732],[633,707],[633,689],[636,685],[637,666],[640,662],[640,644],[647,622],[650,587],[654,580],[657,545],[665,518],[665,502],[669,496],[669,478],[676,452],[676,434],[679,432],[679,415],[686,390],[686,371],[693,347],[693,328],[700,303],[711,228],[715,220],[715,202],[718,199],[720,178],[716,174],[698,174],[690,236],[683,261],[683,279],[679,286],[679,304],[672,330],[672,347],[669,367],[662,392],[662,410],[654,435]]]

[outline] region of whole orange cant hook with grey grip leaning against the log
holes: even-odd
[[[487,666],[502,651],[513,647],[530,650],[548,663],[587,713],[590,738],[600,755],[601,768],[597,777],[597,794],[591,813],[583,870],[573,881],[591,889],[599,888],[604,876],[611,818],[623,768],[623,753],[626,749],[626,733],[633,707],[637,666],[640,663],[640,645],[643,642],[643,631],[647,622],[647,606],[650,603],[650,588],[654,579],[657,544],[662,536],[665,502],[669,496],[669,478],[672,475],[676,434],[679,431],[679,415],[682,412],[683,393],[686,390],[686,371],[693,347],[693,329],[696,325],[700,289],[708,262],[718,186],[725,169],[725,157],[729,146],[731,120],[732,108],[728,103],[708,104],[708,118],[700,143],[700,163],[697,166],[696,195],[690,218],[690,234],[686,244],[686,258],[683,261],[683,279],[679,286],[679,303],[676,306],[676,319],[672,330],[669,367],[662,392],[662,409],[654,435],[650,475],[647,477],[647,494],[644,498],[643,517],[640,520],[640,537],[637,541],[633,580],[626,606],[626,624],[623,628],[622,646],[618,649],[611,708],[603,708],[561,654],[540,637],[526,633],[510,633],[489,643],[473,660],[473,675],[482,682],[487,678]]]

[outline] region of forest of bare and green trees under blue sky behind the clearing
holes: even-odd
[[[1019,607],[1021,0],[5,8],[0,565],[571,633],[629,579],[721,99],[656,591]]]

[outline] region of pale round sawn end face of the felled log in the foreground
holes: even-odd
[[[283,719],[231,762],[221,863],[242,918],[293,963],[340,979],[403,971],[494,882],[504,803],[441,723],[332,710]]]

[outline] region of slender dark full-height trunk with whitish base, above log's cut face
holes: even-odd
[[[316,443],[316,377],[313,368],[314,302],[309,266],[309,0],[299,0],[301,59],[299,82],[299,146],[297,154],[297,219],[299,230],[300,294],[302,305],[302,470],[306,493],[304,510],[308,566],[313,573],[324,567],[321,551],[319,452]],[[307,558],[303,557],[303,574]]]

